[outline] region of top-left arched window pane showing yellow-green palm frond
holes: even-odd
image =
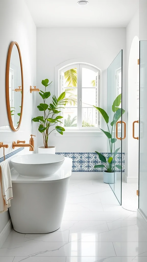
[[[77,87],[77,68],[71,68],[62,75],[63,87]]]

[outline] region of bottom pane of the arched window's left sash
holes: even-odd
[[[63,124],[64,127],[77,126],[77,108],[66,107],[63,111]]]

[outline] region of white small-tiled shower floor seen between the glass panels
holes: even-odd
[[[138,196],[136,195],[136,190],[138,189],[138,184],[126,183],[122,181],[122,207],[136,211],[138,208]]]

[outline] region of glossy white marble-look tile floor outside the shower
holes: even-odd
[[[12,230],[2,262],[146,262],[147,233],[103,181],[71,180],[61,228],[49,234]]]

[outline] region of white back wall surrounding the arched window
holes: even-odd
[[[55,67],[70,59],[91,63],[102,71],[101,107],[107,105],[106,69],[123,49],[123,63],[126,61],[125,28],[37,28],[37,88],[41,89],[41,80],[48,78],[51,94],[55,92]],[[123,72],[126,71],[124,66]],[[125,77],[125,73],[124,73]],[[37,96],[37,103],[41,103]],[[38,105],[37,104],[37,105]],[[109,112],[108,112],[109,113]],[[39,111],[36,110],[37,116]],[[37,123],[35,123],[37,125]],[[38,145],[43,145],[42,135],[37,134]],[[106,152],[105,136],[65,137],[52,133],[49,144],[56,146],[56,152]]]

